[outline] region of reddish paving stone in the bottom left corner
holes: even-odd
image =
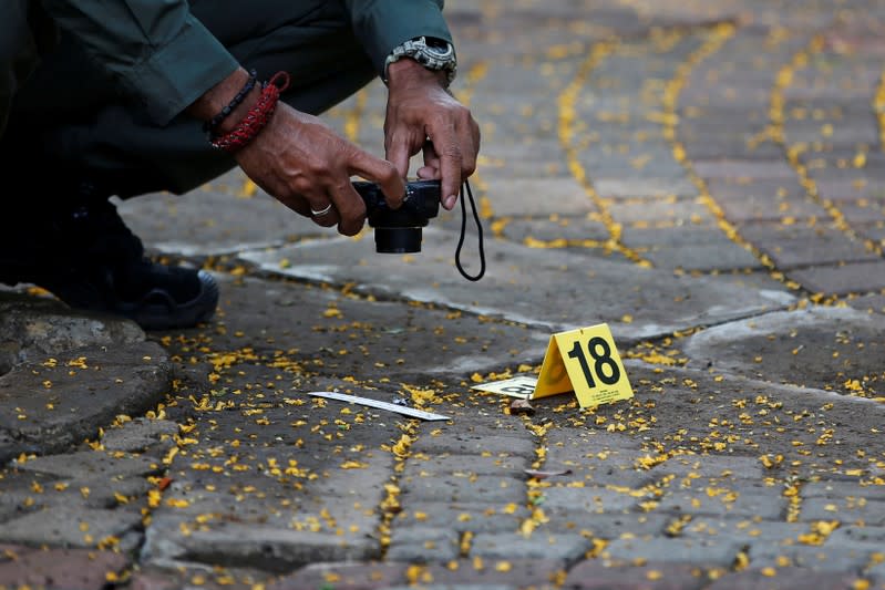
[[[85,549],[32,549],[3,546],[0,588],[76,588],[102,590],[122,575],[128,559],[112,551]]]

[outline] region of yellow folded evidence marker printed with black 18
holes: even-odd
[[[537,386],[529,400],[574,391],[580,407],[634,396],[615,339],[600,323],[550,337]]]

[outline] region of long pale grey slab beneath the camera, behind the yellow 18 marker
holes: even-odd
[[[552,257],[547,250],[496,240],[486,242],[486,276],[472,283],[453,268],[450,252],[457,237],[452,234],[425,228],[423,252],[407,257],[377,255],[371,239],[308,242],[244,252],[241,258],[277,276],[352,284],[354,291],[379,298],[411,299],[553,330],[608,322],[622,340],[719,323],[778,309],[794,299],[785,291],[673,277],[593,256]],[[471,239],[464,255],[469,271],[475,271]],[[563,272],[572,280],[563,283],[557,278]],[[502,299],[503,292],[510,297]],[[629,323],[622,321],[626,315]]]

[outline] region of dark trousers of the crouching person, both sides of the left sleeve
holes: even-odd
[[[284,100],[299,111],[319,114],[377,75],[339,2],[193,0],[191,6],[260,79],[288,72]],[[183,115],[164,127],[151,124],[115,97],[76,48],[62,43],[17,97],[3,139],[8,152],[21,152],[27,138],[37,138],[32,151],[24,151],[47,169],[95,182],[124,198],[186,193],[235,166],[208,144],[200,122]],[[42,126],[35,128],[35,122]]]

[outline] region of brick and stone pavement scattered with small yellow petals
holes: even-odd
[[[39,456],[12,435],[39,408],[4,406],[0,587],[885,588],[885,7],[447,11],[486,278],[453,271],[452,214],[391,261],[237,173],[127,201],[155,252],[217,273],[222,309],[131,333],[154,405],[97,402],[76,448]],[[373,84],[328,121],[379,152],[383,104]],[[597,322],[634,400],[515,415],[471,390]],[[55,368],[29,346],[0,361]],[[332,387],[452,420],[306,393]]]

